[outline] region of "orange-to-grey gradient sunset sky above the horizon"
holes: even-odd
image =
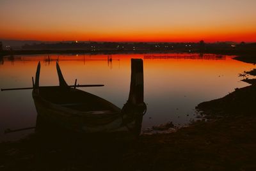
[[[256,41],[256,0],[0,0],[0,38]]]

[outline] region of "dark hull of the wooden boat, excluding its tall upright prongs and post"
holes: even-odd
[[[68,103],[54,103],[55,100],[48,99],[51,97],[47,94],[58,96],[58,92],[67,98],[65,100],[60,97],[60,101]],[[77,98],[81,103],[78,106],[76,103],[71,103],[68,106],[73,101],[70,98]],[[82,133],[129,132],[135,129],[136,120],[138,120],[134,117],[124,123],[124,117],[127,117],[127,114],[124,115],[120,108],[94,94],[79,89],[63,91],[61,87],[39,88],[33,90],[33,100],[38,113],[36,130],[52,130],[54,128]],[[83,107],[83,104],[86,105],[88,101],[93,101],[93,103],[90,103],[89,108]]]

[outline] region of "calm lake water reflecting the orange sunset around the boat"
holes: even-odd
[[[131,58],[144,63],[147,114],[142,130],[172,121],[188,124],[195,118],[195,107],[203,101],[221,98],[241,82],[239,73],[253,69],[252,64],[232,56],[212,54],[115,54],[107,55],[33,55],[3,57],[0,61],[0,87],[31,87],[36,65],[41,61],[40,85],[58,85],[56,60],[68,84],[104,84],[81,88],[122,108],[129,96]],[[50,60],[49,60],[50,59]],[[4,130],[35,126],[36,110],[31,90],[0,92],[0,141],[24,137],[33,130],[4,135]]]

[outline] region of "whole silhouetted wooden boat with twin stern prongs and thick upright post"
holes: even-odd
[[[142,67],[142,68],[141,68]],[[36,129],[42,126],[83,133],[140,133],[146,105],[143,102],[143,61],[132,59],[129,100],[118,108],[99,96],[68,86],[56,63],[60,86],[40,87],[40,63],[33,84],[33,100],[38,118]]]

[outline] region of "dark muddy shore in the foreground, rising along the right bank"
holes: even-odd
[[[256,170],[256,85],[204,102],[207,122],[127,141],[31,135],[0,145],[0,170]]]

